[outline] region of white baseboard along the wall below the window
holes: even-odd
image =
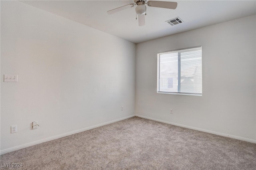
[[[142,115],[135,115],[135,116],[141,117],[141,118],[144,118],[144,119],[150,119],[152,121],[158,121],[158,122],[167,123],[167,124],[170,124],[170,125],[175,125],[175,126],[184,127],[184,128],[190,128],[190,129],[194,129],[194,130],[198,130],[198,131],[202,131],[202,132],[207,132],[207,133],[217,134],[217,135],[220,135],[220,136],[225,136],[225,137],[229,137],[229,138],[243,140],[243,141],[246,141],[246,142],[256,143],[256,140],[243,138],[243,137],[239,137],[239,136],[234,136],[234,135],[231,135],[231,134],[224,134],[224,133],[214,132],[214,131],[206,130],[206,129],[202,129],[202,128],[190,127],[190,126],[187,126],[187,125],[181,125],[181,124],[178,124],[178,123],[172,123],[172,122],[163,121],[163,120],[160,120],[160,119],[154,119],[154,118],[146,117],[146,116],[142,116]]]

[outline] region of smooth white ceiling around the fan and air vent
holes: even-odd
[[[167,0],[163,0],[167,1]],[[134,43],[145,42],[256,14],[256,0],[174,0],[175,10],[147,6],[146,25],[138,26],[135,7],[108,15],[133,0],[30,0],[22,2]],[[179,17],[184,23],[165,21]]]

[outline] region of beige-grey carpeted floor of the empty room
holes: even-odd
[[[256,170],[256,144],[132,117],[3,154],[0,162],[28,170]]]

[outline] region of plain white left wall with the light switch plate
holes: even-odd
[[[1,153],[134,115],[135,50],[121,38],[1,1]],[[4,83],[4,74],[18,82]]]

